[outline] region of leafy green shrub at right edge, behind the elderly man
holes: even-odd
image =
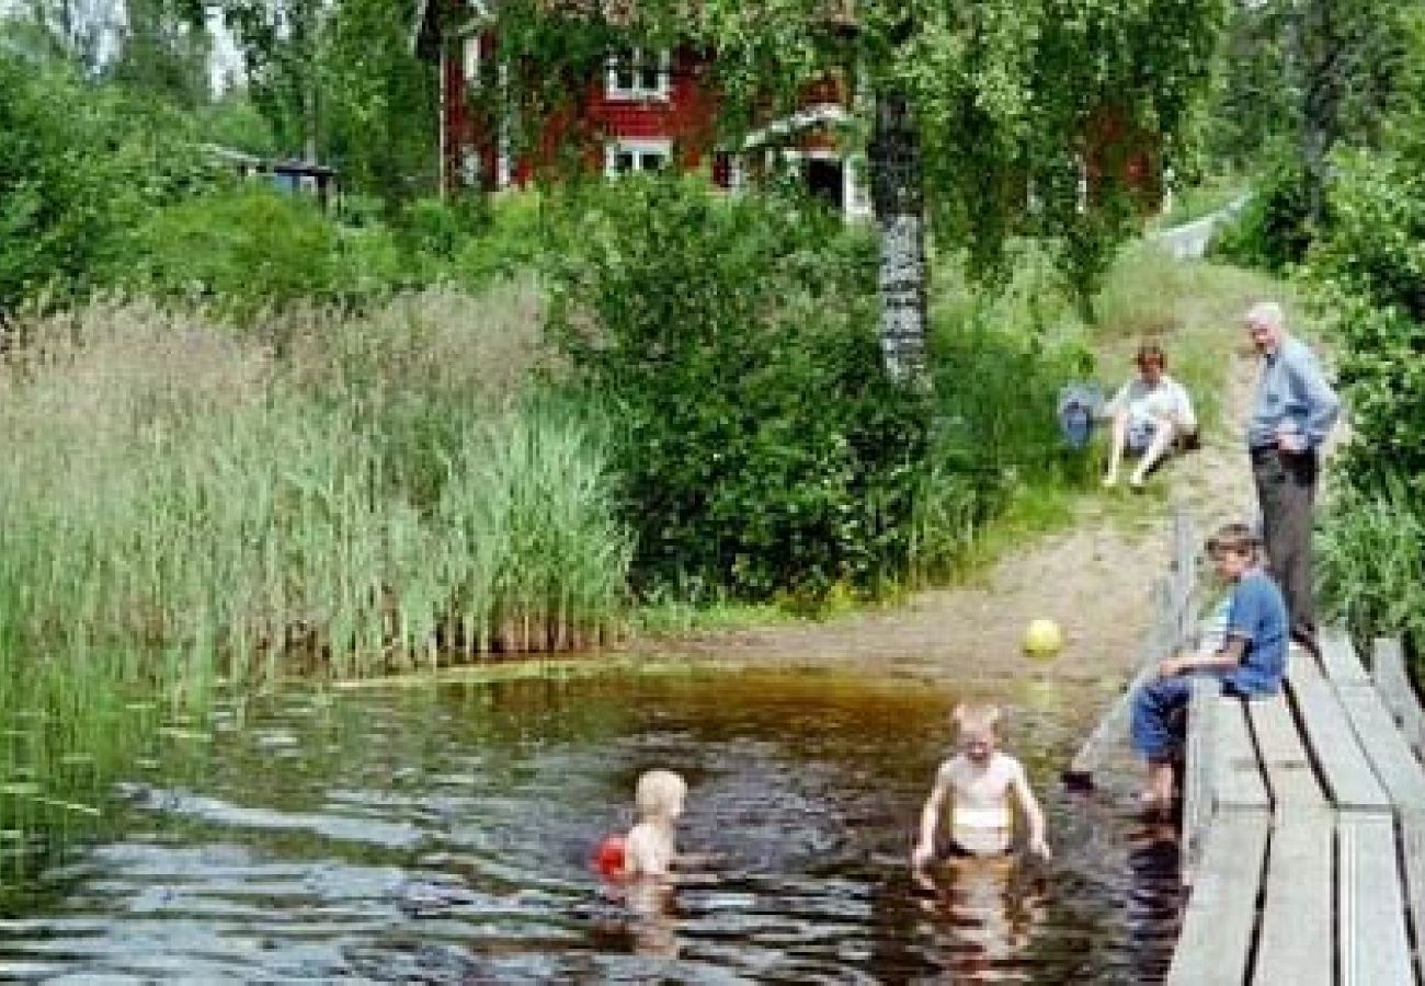
[[[1425,141],[1340,155],[1308,282],[1331,313],[1351,442],[1322,539],[1327,604],[1425,644]]]

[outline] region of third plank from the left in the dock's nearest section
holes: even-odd
[[[1409,986],[1411,943],[1388,818],[1342,816],[1337,826],[1341,986]]]

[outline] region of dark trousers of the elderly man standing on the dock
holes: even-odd
[[[1271,577],[1287,598],[1291,638],[1317,651],[1311,593],[1311,509],[1317,499],[1317,453],[1253,449],[1253,479],[1261,504],[1263,540]]]

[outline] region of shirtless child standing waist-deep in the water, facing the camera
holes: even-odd
[[[1010,848],[1013,812],[1009,795],[1013,792],[1029,822],[1029,851],[1047,859],[1045,815],[1029,787],[1023,765],[996,749],[995,724],[999,708],[993,705],[956,705],[953,712],[959,727],[958,754],[940,764],[935,787],[921,811],[921,839],[911,862],[916,869],[936,858],[935,834],[940,824],[945,801],[950,801],[950,856],[1005,855]]]

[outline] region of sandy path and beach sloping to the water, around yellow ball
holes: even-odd
[[[1140,660],[1153,586],[1167,571],[1173,506],[1187,507],[1200,534],[1250,519],[1254,496],[1241,420],[1253,373],[1247,352],[1224,353],[1220,423],[1198,453],[1150,479],[1150,487],[1166,494],[1137,496],[1120,486],[1084,496],[1069,530],[1009,553],[968,584],[828,623],[644,641],[640,650],[734,663],[849,663],[990,688],[1026,678],[1116,688]],[[1063,627],[1066,645],[1057,660],[1033,661],[1020,651],[1023,628],[1035,617]]]

